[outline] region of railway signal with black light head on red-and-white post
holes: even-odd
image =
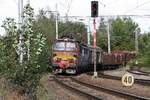
[[[91,1],[91,17],[93,17],[93,26],[94,26],[94,32],[93,32],[93,48],[94,48],[94,74],[93,77],[97,77],[97,71],[96,71],[96,22],[95,18],[98,17],[98,1]]]

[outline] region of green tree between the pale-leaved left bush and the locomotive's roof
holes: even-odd
[[[37,19],[35,19],[33,23],[33,31],[35,33],[41,33],[46,38],[46,43],[51,50],[51,45],[55,40],[55,19],[50,15],[50,18],[46,16],[46,11],[40,10],[37,15]]]

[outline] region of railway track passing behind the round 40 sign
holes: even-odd
[[[92,73],[87,73],[87,75],[92,75]],[[119,76],[106,75],[103,73],[98,73],[98,77],[107,78],[107,79],[114,79],[114,80],[121,80],[121,77],[119,77]],[[140,85],[144,85],[144,86],[150,86],[150,80],[135,79],[134,82],[136,84],[140,84]]]

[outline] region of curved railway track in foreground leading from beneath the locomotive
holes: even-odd
[[[90,83],[85,83],[80,80],[75,79],[74,77],[53,77],[54,80],[62,85],[63,87],[76,92],[82,96],[90,100],[104,100],[105,97],[102,97],[101,92],[109,95],[116,96],[117,98],[124,98],[124,99],[132,99],[132,100],[149,100],[150,98],[146,98],[143,96],[138,96],[135,94],[130,94],[127,92],[122,92],[119,90],[110,89],[107,87],[96,86]],[[106,96],[106,95],[105,95]],[[107,96],[106,96],[107,97]]]

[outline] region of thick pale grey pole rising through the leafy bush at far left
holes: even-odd
[[[22,19],[23,14],[23,0],[18,0],[18,33],[19,33],[19,63],[22,65],[23,63],[23,35],[22,35],[22,29],[21,25],[23,22]]]

